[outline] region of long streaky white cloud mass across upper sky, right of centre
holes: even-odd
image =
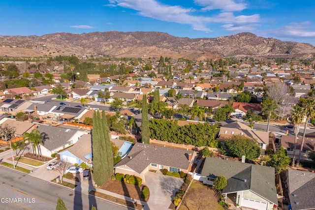
[[[189,24],[193,30],[212,31],[208,28],[208,25],[211,23],[222,23],[225,25],[223,28],[226,30],[236,30],[241,29],[242,27],[244,29],[246,27],[252,29],[253,26],[250,24],[260,21],[258,14],[251,16],[234,16],[231,11],[241,11],[247,6],[244,3],[236,3],[235,0],[223,0],[222,2],[219,0],[195,0],[195,2],[205,6],[203,8],[204,10],[213,8],[229,12],[222,12],[214,17],[195,16],[192,15],[192,13],[195,12],[195,9],[193,8],[183,8],[179,5],[166,5],[156,0],[110,0],[110,3],[117,6],[138,11],[138,14],[141,16],[166,22]],[[233,26],[226,27],[226,24],[232,24]]]

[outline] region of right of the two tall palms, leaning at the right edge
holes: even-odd
[[[303,151],[303,146],[304,146],[307,122],[311,118],[313,118],[314,115],[315,115],[315,101],[314,101],[314,99],[310,99],[310,98],[303,99],[300,104],[302,105],[302,109],[304,110],[304,115],[306,116],[306,121],[305,121],[305,124],[304,124],[301,148],[300,148],[299,158],[296,161],[296,166],[299,166],[300,160],[301,160],[301,157],[302,157],[302,151]]]

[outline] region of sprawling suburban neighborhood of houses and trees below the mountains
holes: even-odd
[[[315,209],[315,65],[276,61],[8,76],[0,165],[130,209]]]

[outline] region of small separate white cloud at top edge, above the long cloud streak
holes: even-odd
[[[237,3],[235,0],[194,0],[200,6],[204,6],[201,10],[208,11],[220,9],[223,11],[242,11],[247,8],[246,3]]]

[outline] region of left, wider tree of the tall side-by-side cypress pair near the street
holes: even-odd
[[[93,177],[97,186],[101,186],[108,180],[107,176],[107,154],[104,143],[104,133],[99,111],[93,114],[92,130],[92,151],[93,151]]]

